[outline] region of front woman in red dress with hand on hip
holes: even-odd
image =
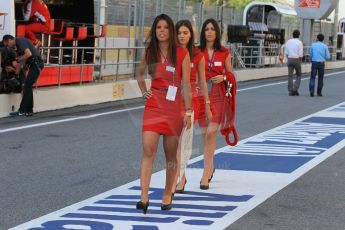
[[[178,169],[178,139],[184,125],[190,128],[192,114],[190,58],[185,48],[176,45],[174,23],[168,15],[161,14],[155,18],[147,43],[137,73],[139,88],[146,99],[142,126],[141,199],[136,206],[143,213],[149,206],[149,185],[160,135],[163,135],[166,158],[166,183],[161,209],[169,210],[172,207],[171,191]],[[144,79],[146,69],[152,79],[150,89]]]

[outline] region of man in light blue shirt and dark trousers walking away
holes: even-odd
[[[325,37],[323,34],[318,34],[317,41],[311,45],[310,50],[309,50],[310,58],[311,58],[309,92],[310,92],[311,97],[314,97],[316,74],[318,75],[317,96],[319,97],[322,96],[323,76],[325,74],[325,62],[326,60],[330,59],[328,47],[326,44],[323,43],[324,39]]]

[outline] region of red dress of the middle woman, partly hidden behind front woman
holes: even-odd
[[[200,61],[204,58],[203,53],[200,51],[199,48],[194,48],[194,55],[191,61],[191,69],[190,69],[190,85],[192,89],[192,106],[194,111],[194,121],[199,118],[200,113],[200,102],[199,102],[199,84],[197,82],[197,72],[198,72],[198,65]]]

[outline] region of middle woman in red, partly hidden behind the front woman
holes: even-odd
[[[194,46],[194,33],[193,27],[190,21],[181,20],[176,23],[177,42],[180,46],[187,48],[189,56],[191,57],[191,72],[190,72],[190,84],[192,89],[192,108],[194,111],[194,120],[196,121],[199,117],[200,105],[198,98],[199,88],[205,101],[209,102],[207,93],[207,84],[205,80],[205,58],[202,52]],[[210,104],[207,103],[205,106],[206,117],[212,119],[212,113]],[[192,140],[189,140],[192,142]],[[179,159],[181,158],[178,156]],[[187,183],[186,176],[180,178],[180,182],[176,186],[176,193],[183,193],[184,187]]]

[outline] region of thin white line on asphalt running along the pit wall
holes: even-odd
[[[329,74],[325,74],[325,76],[333,76],[333,75],[341,74],[341,73],[345,73],[345,71],[329,73]],[[303,78],[302,80],[307,80],[307,79],[309,79],[309,78]],[[281,81],[281,82],[270,83],[270,84],[265,84],[265,85],[260,85],[260,86],[248,87],[248,88],[244,88],[244,89],[239,89],[239,90],[237,90],[237,92],[243,92],[243,91],[259,89],[259,88],[275,86],[275,85],[281,85],[281,84],[287,84],[287,82]],[[18,126],[18,127],[14,127],[14,128],[8,128],[8,129],[0,129],[0,133],[8,133],[8,132],[18,131],[18,130],[23,130],[23,129],[36,128],[36,127],[47,126],[47,125],[54,125],[54,124],[76,121],[76,120],[82,120],[82,119],[90,119],[90,118],[107,116],[107,115],[121,113],[121,112],[129,112],[132,110],[138,110],[138,109],[143,109],[143,108],[144,108],[144,106],[138,106],[138,107],[134,107],[134,108],[109,111],[109,112],[105,112],[105,113],[96,113],[96,114],[91,114],[88,116],[73,117],[73,118],[67,118],[67,119],[61,119],[61,120],[55,120],[55,121],[49,121],[49,122],[36,123],[36,124],[32,124],[32,125]]]

